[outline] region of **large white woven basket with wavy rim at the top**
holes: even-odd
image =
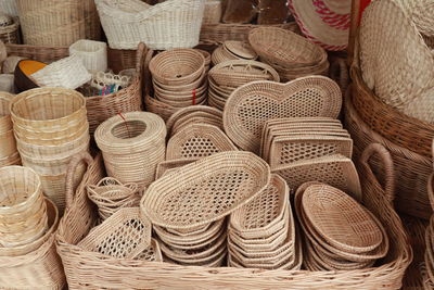
[[[97,7],[111,48],[136,49],[144,42],[151,49],[167,50],[199,43],[205,0],[168,0],[155,5],[98,0]]]

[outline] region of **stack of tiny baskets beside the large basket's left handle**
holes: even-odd
[[[101,220],[108,218],[122,207],[139,206],[141,194],[137,184],[123,185],[112,177],[87,187],[89,199],[97,204]]]

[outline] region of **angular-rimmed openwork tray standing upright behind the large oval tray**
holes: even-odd
[[[218,127],[191,124],[179,130],[167,142],[166,160],[200,159],[237,147]]]

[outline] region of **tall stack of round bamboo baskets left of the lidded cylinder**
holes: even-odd
[[[43,193],[59,211],[65,206],[66,169],[73,155],[88,151],[89,124],[81,93],[62,88],[39,88],[11,101],[16,144],[24,166],[39,174]],[[81,178],[85,166],[75,174]]]

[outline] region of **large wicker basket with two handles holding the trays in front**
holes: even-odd
[[[75,164],[85,159],[88,173],[75,194],[68,190],[67,210],[61,220],[56,244],[65,267],[69,289],[399,289],[405,269],[412,259],[403,224],[391,206],[393,191],[385,192],[369,171],[367,159],[376,152],[370,148],[363,155],[365,205],[387,227],[391,250],[381,266],[352,272],[260,270],[252,268],[208,268],[180,266],[132,260],[102,260],[85,252],[77,243],[97,222],[98,212],[88,200],[85,188],[97,184],[103,174],[101,156],[77,155]],[[380,154],[391,164],[387,152]],[[71,164],[72,172],[74,163]],[[391,173],[390,167],[386,171]],[[371,175],[370,175],[371,174]],[[393,175],[388,177],[393,178]],[[71,189],[71,187],[68,187]],[[92,269],[92,270],[89,270]]]

